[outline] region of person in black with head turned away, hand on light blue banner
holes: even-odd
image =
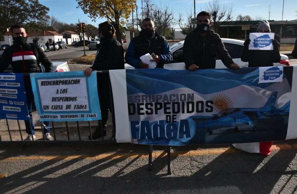
[[[84,70],[84,74],[88,77],[91,72],[96,70],[112,70],[124,69],[124,49],[114,37],[115,28],[109,22],[99,24],[98,34],[100,36],[100,44],[97,45],[98,51],[92,67]],[[109,89],[109,76],[108,73],[100,74],[97,76],[98,96],[102,116],[103,134],[101,132],[100,121],[98,127],[92,133],[92,139],[106,135],[106,124],[108,121],[110,110],[110,89]],[[91,139],[91,136],[88,136]]]

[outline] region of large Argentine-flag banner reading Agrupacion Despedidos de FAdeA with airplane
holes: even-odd
[[[111,70],[117,142],[295,139],[297,68],[265,68]]]

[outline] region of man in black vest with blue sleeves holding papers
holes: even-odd
[[[155,54],[151,61],[157,63],[156,68],[164,68],[165,63],[172,61],[172,52],[167,40],[155,31],[155,23],[150,18],[145,18],[142,21],[140,35],[134,37],[130,42],[125,60],[136,69],[147,69],[149,65],[140,60],[140,57],[147,53]]]

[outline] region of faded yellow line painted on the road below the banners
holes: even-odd
[[[280,144],[272,145],[271,151],[278,151],[281,149],[297,149],[297,144]],[[188,157],[188,156],[209,156],[209,155],[221,155],[221,154],[232,154],[232,153],[241,153],[242,151],[235,149],[233,147],[227,148],[215,148],[215,149],[199,149],[199,150],[190,150],[190,151],[175,151],[171,152],[171,157]],[[139,157],[140,159],[149,158],[147,153],[104,153],[98,156],[92,155],[72,155],[72,156],[20,156],[20,157],[10,157],[3,159],[0,162],[13,162],[19,160],[72,160],[72,159],[87,159],[87,160],[109,160],[109,159],[134,159]],[[153,152],[153,158],[158,157],[167,157],[166,152]]]

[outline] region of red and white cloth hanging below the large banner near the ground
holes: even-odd
[[[253,143],[234,143],[232,144],[236,149],[249,152],[259,153],[267,156],[271,153],[271,146],[273,142],[253,142]]]

